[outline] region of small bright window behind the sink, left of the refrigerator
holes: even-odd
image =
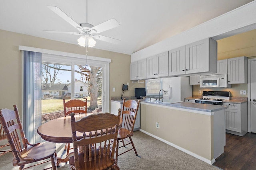
[[[162,89],[162,78],[146,80],[146,96],[158,95]]]

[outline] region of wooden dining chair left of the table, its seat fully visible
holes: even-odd
[[[45,162],[51,161],[52,167],[47,169],[52,168],[53,170],[56,170],[55,158],[57,157],[55,151],[55,143],[43,142],[34,145],[28,143],[28,140],[24,135],[22,124],[20,122],[18,109],[16,105],[13,107],[14,110],[0,110],[0,122],[4,128],[4,132],[14,156],[14,159],[12,160],[13,166],[20,166],[19,169],[23,170],[26,169],[24,168],[26,164],[50,158],[50,160],[46,160]],[[42,164],[42,162],[38,164]]]

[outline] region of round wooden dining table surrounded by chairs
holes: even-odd
[[[93,113],[78,114],[75,115],[76,121],[82,119]],[[119,127],[122,125],[122,118],[120,118]],[[71,116],[60,117],[57,119],[50,120],[38,127],[37,133],[42,139],[53,142],[53,143],[73,143],[72,131],[71,131]],[[93,134],[92,134],[93,135]],[[83,137],[83,133],[76,132],[76,136],[79,139]],[[66,158],[58,158],[59,162],[68,162],[69,157],[72,156],[70,153]]]

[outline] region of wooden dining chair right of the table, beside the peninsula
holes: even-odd
[[[137,150],[135,149],[134,143],[132,141],[133,136],[133,129],[136,120],[136,116],[138,113],[138,108],[140,105],[140,100],[138,103],[135,100],[123,100],[123,107],[122,107],[122,127],[118,130],[117,142],[116,142],[116,165],[117,165],[117,158],[119,155],[124,154],[130,150],[134,150],[136,156],[138,156]],[[130,139],[127,140],[127,138]],[[128,143],[124,143],[124,140]],[[122,141],[122,146],[119,147],[119,142]],[[126,150],[122,153],[118,153],[118,149],[125,147],[126,145],[132,144],[132,149]]]

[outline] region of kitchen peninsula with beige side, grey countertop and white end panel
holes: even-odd
[[[160,104],[149,99],[141,100],[140,105],[140,131],[208,164],[224,152],[226,106]]]

